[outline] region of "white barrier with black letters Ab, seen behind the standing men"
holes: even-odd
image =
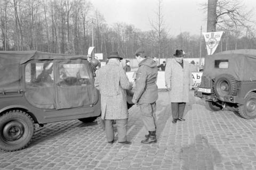
[[[166,89],[165,87],[165,78],[164,78],[164,71],[158,71],[156,85],[158,89]],[[130,82],[133,82],[136,75],[135,71],[126,72],[126,75]],[[192,72],[192,79],[193,79],[193,88],[198,87],[201,83],[203,72]]]

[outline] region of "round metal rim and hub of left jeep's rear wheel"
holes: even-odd
[[[5,124],[3,129],[3,136],[7,141],[15,141],[24,134],[24,126],[18,121],[11,121]]]

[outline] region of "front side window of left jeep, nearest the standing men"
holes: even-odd
[[[92,84],[85,64],[59,64],[60,86],[86,86]]]

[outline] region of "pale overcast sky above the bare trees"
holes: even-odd
[[[232,1],[232,0],[229,0]],[[256,0],[241,0],[247,7],[256,10]],[[93,6],[105,17],[108,24],[125,22],[142,31],[150,30],[149,19],[156,19],[156,0],[91,0]],[[188,31],[200,35],[201,25],[206,31],[206,16],[200,4],[207,0],[163,0],[163,14],[170,35]],[[255,14],[256,15],[256,14]],[[256,16],[255,16],[256,18]]]

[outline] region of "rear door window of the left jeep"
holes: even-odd
[[[28,63],[25,67],[25,72],[25,80],[28,86],[53,86],[54,76],[52,61]]]

